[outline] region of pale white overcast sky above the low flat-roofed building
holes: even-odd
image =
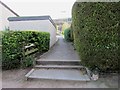
[[[1,0],[20,16],[50,15],[53,19],[70,18],[76,0]]]

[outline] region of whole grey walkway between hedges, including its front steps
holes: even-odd
[[[90,81],[72,43],[62,36],[57,37],[58,42],[36,61],[35,67],[26,74],[27,79]]]

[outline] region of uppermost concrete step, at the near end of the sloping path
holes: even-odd
[[[80,65],[80,60],[37,60],[37,65]]]

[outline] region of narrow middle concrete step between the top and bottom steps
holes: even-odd
[[[44,68],[44,69],[84,69],[80,65],[36,65],[35,68]]]

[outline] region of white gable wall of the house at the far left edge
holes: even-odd
[[[9,27],[8,17],[15,17],[15,15],[0,3],[0,31]]]

